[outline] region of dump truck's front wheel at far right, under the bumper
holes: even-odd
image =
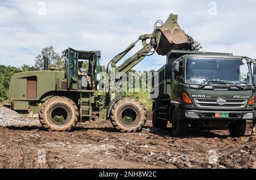
[[[229,133],[232,137],[241,137],[245,135],[246,120],[237,120],[229,127]]]

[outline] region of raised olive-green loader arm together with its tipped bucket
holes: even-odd
[[[161,26],[157,26],[158,24]],[[142,41],[143,48],[135,53],[135,55],[127,58],[123,64],[117,67],[117,63],[135,47],[138,41]],[[150,40],[147,43],[147,40]],[[107,72],[109,73],[109,66],[115,68],[115,74],[117,73],[127,73],[135,65],[141,62],[146,56],[151,56],[155,52],[158,55],[167,55],[171,50],[179,50],[188,46],[187,36],[181,30],[179,24],[177,23],[177,15],[171,14],[167,19],[166,23],[158,20],[155,23],[154,31],[152,34],[145,34],[139,36],[139,39],[132,43],[125,49],[125,51],[119,53],[115,56],[107,66]],[[154,51],[151,51],[154,49]]]

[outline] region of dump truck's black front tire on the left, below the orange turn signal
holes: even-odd
[[[172,114],[172,133],[175,137],[184,137],[187,133],[187,120],[178,119],[177,112],[174,110]]]

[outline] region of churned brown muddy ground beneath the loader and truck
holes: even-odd
[[[6,114],[0,108],[0,115]],[[11,120],[24,124],[8,125]],[[78,124],[72,132],[47,132],[37,119],[27,123],[19,115],[3,121],[0,168],[256,168],[249,123],[245,137],[204,131],[180,139],[171,128],[152,128],[150,112],[140,133],[116,132],[108,121]]]

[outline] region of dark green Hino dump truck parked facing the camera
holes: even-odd
[[[254,118],[255,60],[232,53],[171,51],[152,84],[152,125],[172,124],[174,136],[188,129],[229,129],[245,135]],[[155,81],[155,80],[154,80]]]

